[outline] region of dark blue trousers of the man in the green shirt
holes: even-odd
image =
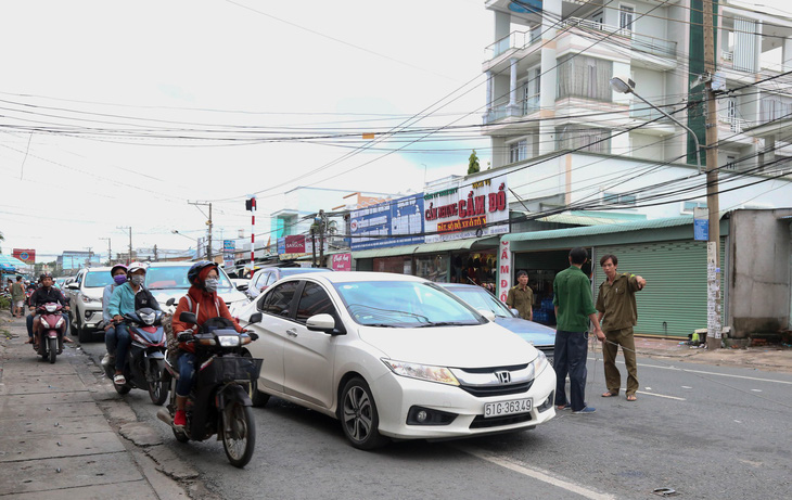
[[[572,411],[586,408],[586,349],[588,348],[587,332],[555,332],[555,348],[553,350],[555,368],[555,405],[567,405],[566,374],[570,374],[570,396]]]

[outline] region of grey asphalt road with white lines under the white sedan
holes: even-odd
[[[99,359],[101,344],[86,351]],[[376,452],[344,440],[334,420],[279,399],[255,410],[256,453],[231,467],[217,441],[179,445],[146,393],[127,396],[232,498],[687,498],[784,497],[792,487],[788,418],[792,374],[639,358],[637,402],[603,399],[601,356],[590,355],[592,415],[559,412],[535,431],[446,443],[404,441]]]

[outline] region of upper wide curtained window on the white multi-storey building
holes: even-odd
[[[559,59],[558,99],[584,98],[611,102],[613,62],[573,54]]]

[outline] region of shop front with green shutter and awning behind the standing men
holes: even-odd
[[[721,290],[727,282],[728,223],[721,221]],[[687,338],[707,324],[706,242],[693,240],[690,217],[653,219],[588,228],[507,234],[501,247],[509,248],[510,279],[514,283],[520,270],[528,272],[534,289],[534,319],[553,325],[552,282],[566,269],[571,248],[588,249],[590,262],[584,272],[591,278],[595,300],[605,279],[599,259],[613,254],[618,271],[639,274],[647,287],[637,296],[637,334]],[[499,258],[503,255],[499,255]],[[499,289],[499,295],[501,290]],[[723,297],[721,318],[726,317],[728,297]]]

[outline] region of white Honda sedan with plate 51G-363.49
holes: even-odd
[[[545,355],[421,278],[284,278],[240,311],[261,322],[254,402],[334,416],[356,448],[532,428],[555,415]]]

